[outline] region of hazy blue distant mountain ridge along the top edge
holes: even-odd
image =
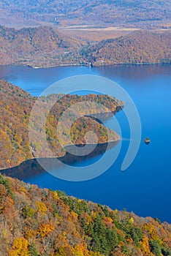
[[[169,0],[1,1],[0,23],[14,26],[61,24],[138,24],[170,22]]]

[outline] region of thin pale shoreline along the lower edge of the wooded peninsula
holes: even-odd
[[[103,144],[107,144],[107,143],[115,143],[115,142],[118,142],[121,140],[121,137],[120,135],[118,135],[119,138],[118,140],[110,140],[110,141],[107,141],[107,142],[103,142],[103,143],[97,143],[97,144],[75,144],[74,146],[86,146],[86,145],[96,145],[96,146],[100,146],[100,145],[103,145]],[[73,145],[67,145],[66,147],[68,146],[73,146]],[[67,154],[67,151],[65,151],[65,154],[63,156],[60,156],[60,157],[66,157],[66,154]],[[60,157],[32,157],[32,158],[29,158],[29,159],[26,159],[26,160],[23,160],[22,162],[20,162],[19,165],[14,165],[14,166],[11,166],[11,167],[5,167],[5,168],[1,168],[0,167],[0,174],[1,174],[1,171],[3,170],[7,170],[7,169],[12,169],[12,168],[15,168],[15,167],[19,167],[21,164],[23,164],[23,162],[26,162],[26,161],[30,161],[30,160],[34,160],[34,159],[51,159],[51,158],[60,158]]]

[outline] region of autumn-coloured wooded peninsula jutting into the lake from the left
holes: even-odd
[[[45,115],[47,105],[51,100],[55,100],[56,104],[50,110],[45,124],[45,133],[50,152],[46,150],[43,144],[43,138],[39,124],[43,116],[36,113],[34,116],[34,123],[30,122],[30,130],[32,132],[31,143],[29,143],[28,127],[31,109],[37,100],[37,97],[32,97],[26,91],[23,91],[18,86],[13,86],[4,80],[0,80],[0,168],[14,166],[20,164],[26,159],[33,157],[61,157],[66,154],[66,151],[61,146],[69,144],[69,138],[66,135],[66,130],[69,129],[69,119],[59,130],[61,141],[59,143],[56,132],[58,125],[58,118],[61,114],[72,105],[78,102],[95,102],[99,103],[91,105],[91,109],[87,104],[82,109],[83,118],[78,118],[71,127],[71,138],[74,144],[85,144],[86,132],[93,130],[98,137],[98,143],[105,143],[107,140],[119,140],[120,137],[114,131],[104,127],[96,119],[88,117],[86,113],[96,114],[102,112],[115,112],[123,107],[123,102],[109,97],[107,95],[89,94],[88,96],[77,95],[63,95],[58,100],[59,94],[50,94],[47,97],[41,97],[41,113]],[[104,105],[104,108],[100,106]],[[94,108],[93,108],[94,106]],[[80,109],[75,108],[71,117],[75,117]],[[46,120],[46,119],[45,119]],[[70,129],[69,129],[70,130]],[[91,143],[94,143],[94,138],[89,138]]]

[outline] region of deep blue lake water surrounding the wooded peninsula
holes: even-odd
[[[171,223],[171,72],[169,65],[130,67],[0,67],[0,78],[20,86],[32,95],[39,96],[47,86],[72,75],[101,75],[119,83],[132,97],[140,114],[142,139],[148,136],[151,143],[140,143],[132,165],[121,171],[121,164],[129,146],[123,140],[115,163],[101,176],[89,181],[64,181],[46,172],[20,176],[23,181],[39,187],[61,189],[68,195],[102,203],[111,208],[133,211],[142,217],[158,217]],[[123,111],[116,114],[123,138],[129,138],[129,124]],[[110,120],[107,121],[110,127]],[[115,148],[107,152],[113,157]],[[75,162],[91,164],[102,156]],[[30,170],[29,170],[30,171]],[[62,169],[61,169],[62,171]]]

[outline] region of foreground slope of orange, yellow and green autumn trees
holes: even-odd
[[[0,255],[167,256],[171,225],[0,176]]]

